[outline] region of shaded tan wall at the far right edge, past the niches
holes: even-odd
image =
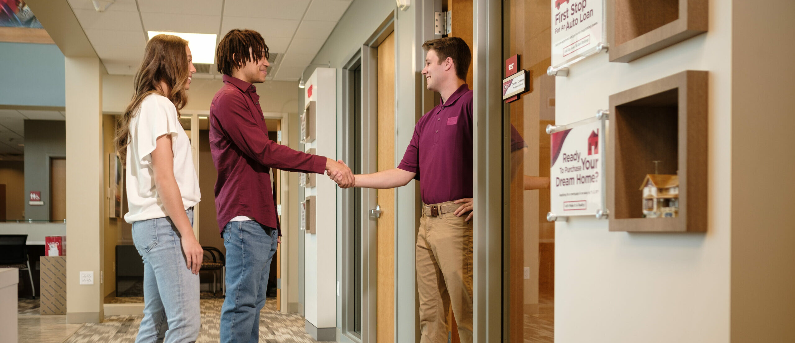
[[[731,342],[792,342],[795,2],[733,5]]]

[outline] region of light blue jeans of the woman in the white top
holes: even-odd
[[[193,223],[193,210],[186,212]],[[144,261],[144,318],[136,343],[199,337],[199,276],[188,270],[180,239],[169,217],[133,223],[135,249]]]

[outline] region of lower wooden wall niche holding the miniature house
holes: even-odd
[[[610,96],[611,231],[707,230],[707,79],[707,71],[682,71]],[[676,218],[643,218],[639,188],[655,173],[679,175]]]

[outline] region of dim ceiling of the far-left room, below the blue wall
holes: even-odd
[[[64,111],[0,109],[0,160],[22,160],[25,152],[25,119],[66,120]]]

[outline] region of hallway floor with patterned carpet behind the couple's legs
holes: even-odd
[[[201,331],[196,342],[219,341],[222,298],[209,292],[201,296]],[[143,315],[109,315],[102,323],[65,324],[65,316],[40,316],[38,300],[20,299],[20,343],[133,343]],[[264,343],[316,343],[304,329],[299,314],[285,314],[269,298],[260,315],[260,336]]]

